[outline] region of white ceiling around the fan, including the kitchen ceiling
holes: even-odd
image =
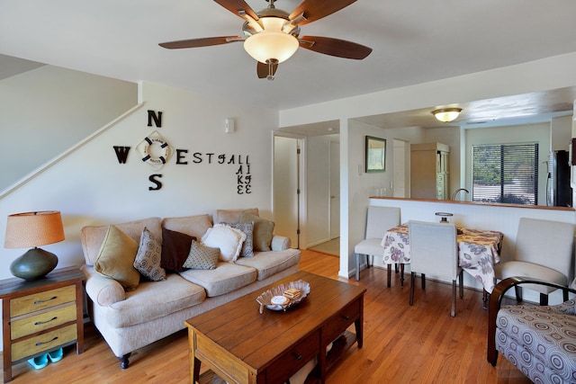
[[[300,2],[275,5],[291,12]],[[255,10],[267,5],[247,4]],[[170,40],[241,34],[243,20],[211,0],[3,0],[0,54],[283,110],[574,52],[574,15],[574,0],[358,0],[302,25],[301,36],[355,41],[374,49],[368,58],[299,49],[271,82],[257,78],[256,62],[241,43],[158,47]],[[2,55],[0,66],[4,69]],[[575,89],[459,106],[470,124],[490,121],[496,112],[504,119],[530,109],[571,112]],[[365,121],[421,125],[424,116],[429,122],[429,110]]]

